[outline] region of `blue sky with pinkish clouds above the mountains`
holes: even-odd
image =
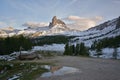
[[[53,16],[84,30],[119,17],[120,0],[0,0],[0,28],[48,25]]]

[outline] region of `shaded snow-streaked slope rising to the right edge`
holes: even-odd
[[[95,40],[118,36],[120,35],[120,28],[116,28],[118,22],[120,22],[120,17],[107,21],[86,31],[81,31],[77,35],[78,37],[71,41],[74,43],[84,42],[87,46],[91,46],[92,42]]]

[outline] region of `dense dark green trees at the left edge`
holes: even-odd
[[[0,55],[19,51],[20,47],[23,50],[29,50],[32,49],[32,45],[32,41],[23,35],[0,38]]]

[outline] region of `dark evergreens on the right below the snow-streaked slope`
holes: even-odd
[[[117,58],[117,48],[120,47],[120,35],[112,38],[104,38],[102,40],[94,41],[91,45],[91,50],[96,50],[97,55],[102,55],[103,48],[113,48],[113,57]]]

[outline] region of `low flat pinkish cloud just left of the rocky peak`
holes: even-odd
[[[23,26],[25,27],[31,27],[31,28],[34,28],[34,27],[44,27],[44,26],[48,26],[49,23],[46,23],[46,22],[26,22],[23,24]]]

